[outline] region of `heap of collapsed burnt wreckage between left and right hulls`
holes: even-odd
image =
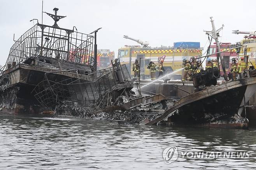
[[[153,120],[171,105],[160,94],[136,95],[132,90],[136,84],[132,83],[126,66],[121,65],[118,59],[112,61],[111,68],[86,75],[77,74],[59,82],[53,80],[57,73],[60,71],[46,73],[44,80],[33,89],[39,103],[54,110],[55,116],[68,114],[140,123],[146,119]]]

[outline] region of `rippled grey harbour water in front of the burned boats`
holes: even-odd
[[[185,159],[162,151],[250,151],[248,159]],[[0,113],[0,169],[256,168],[256,129],[150,127]]]

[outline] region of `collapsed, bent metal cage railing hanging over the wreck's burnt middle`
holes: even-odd
[[[124,78],[121,88],[131,87],[132,80],[125,64],[121,65],[121,70]],[[35,94],[35,98],[42,106],[54,108],[64,101],[82,102],[82,104],[95,102],[108,92],[118,88],[117,84],[113,68],[106,68],[60,82],[49,80],[46,75],[45,80],[40,82],[32,93]]]

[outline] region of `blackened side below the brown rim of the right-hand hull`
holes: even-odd
[[[204,124],[230,118],[237,113],[246,86],[233,88],[205,99],[181,106],[171,121],[185,124]]]

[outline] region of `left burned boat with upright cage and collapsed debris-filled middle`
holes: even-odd
[[[129,72],[117,59],[112,67],[97,71],[93,43],[98,29],[93,36],[79,33],[75,27],[60,28],[57,21],[64,16],[57,15],[57,8],[53,10],[55,14],[46,13],[54,19],[53,26],[37,21],[11,47],[0,74],[2,111],[69,112],[92,118],[102,111],[130,109],[164,98],[135,95]],[[137,117],[139,123],[142,118]]]

